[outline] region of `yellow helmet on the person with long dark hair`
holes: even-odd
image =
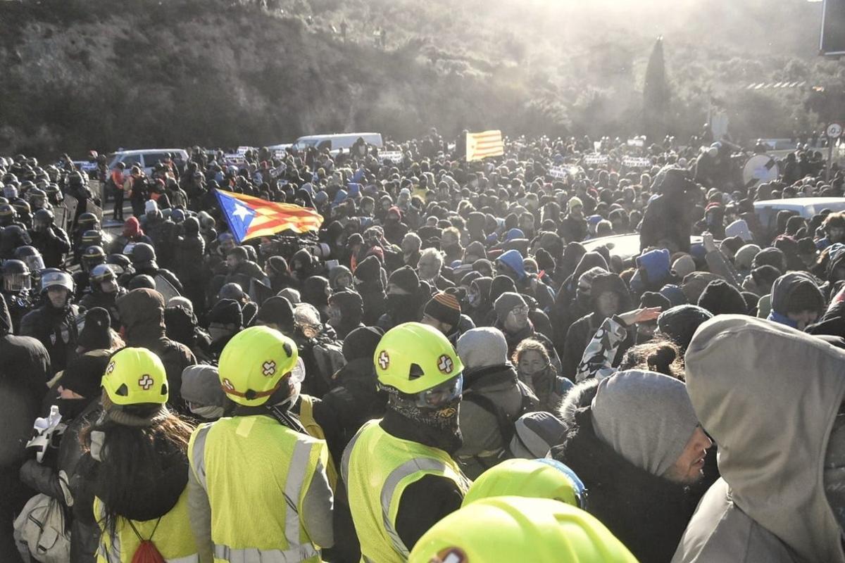
[[[155,353],[124,348],[106,365],[101,386],[115,404],[164,404],[169,396],[167,372]]]

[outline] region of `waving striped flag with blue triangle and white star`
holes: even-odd
[[[238,244],[256,236],[270,236],[282,230],[305,233],[319,230],[323,216],[312,208],[269,202],[243,193],[215,190],[220,208]]]

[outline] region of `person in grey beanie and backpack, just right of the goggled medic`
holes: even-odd
[[[498,328],[472,328],[458,338],[458,355],[464,362],[464,395],[461,403],[463,445],[455,459],[464,474],[476,479],[510,454],[513,434],[504,420],[514,421],[537,407],[537,398],[519,381],[508,360],[508,343]],[[510,424],[513,424],[510,422]]]

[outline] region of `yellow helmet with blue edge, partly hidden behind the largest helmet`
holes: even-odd
[[[461,506],[492,496],[552,499],[586,509],[586,489],[572,469],[554,459],[507,459],[478,476]]]

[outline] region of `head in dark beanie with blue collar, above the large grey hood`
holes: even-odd
[[[784,273],[771,286],[771,311],[767,317],[770,321],[804,330],[825,309],[825,296],[809,273]]]

